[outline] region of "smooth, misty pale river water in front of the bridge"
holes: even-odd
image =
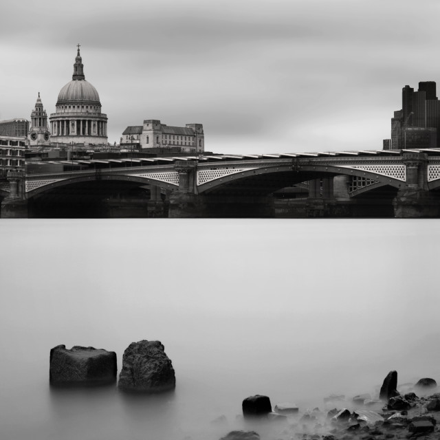
[[[219,439],[248,395],[323,408],[391,369],[440,380],[436,220],[2,220],[0,243],[2,439]],[[142,339],[175,393],[50,391],[52,347],[120,368]]]

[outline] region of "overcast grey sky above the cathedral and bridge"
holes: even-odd
[[[381,149],[401,88],[440,80],[436,0],[1,0],[0,119],[85,78],[109,142],[159,119],[206,150]]]

